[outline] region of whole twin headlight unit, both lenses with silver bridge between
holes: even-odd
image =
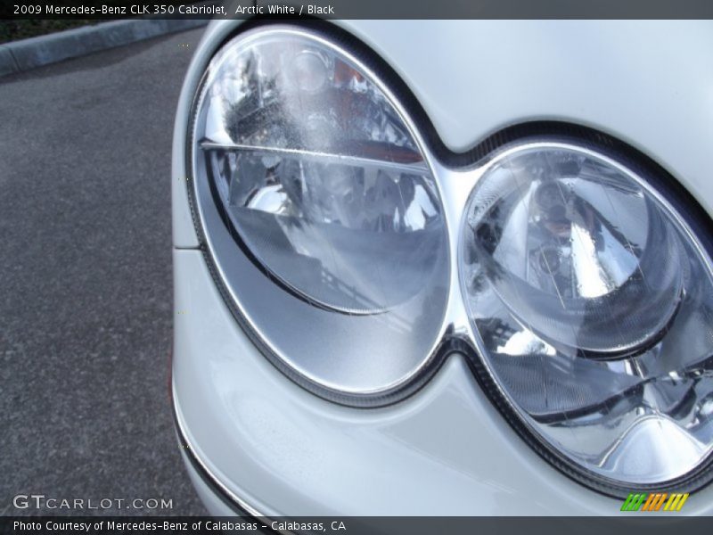
[[[197,227],[267,358],[373,406],[470,350],[509,421],[579,481],[708,481],[713,271],[659,177],[606,144],[545,137],[497,136],[480,163],[434,166],[338,41],[243,31],[193,103]]]

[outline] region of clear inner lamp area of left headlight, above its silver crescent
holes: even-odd
[[[381,91],[299,39],[218,62],[201,147],[228,217],[264,267],[354,314],[421,292],[445,224],[430,170]]]

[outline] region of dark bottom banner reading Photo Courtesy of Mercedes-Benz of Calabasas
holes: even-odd
[[[516,508],[517,504],[513,504]],[[328,535],[448,535],[526,533],[527,535],[658,535],[679,532],[709,534],[713,518],[686,517],[676,513],[620,514],[610,517],[120,517],[120,516],[5,516],[0,533],[5,535],[91,535],[294,532]]]

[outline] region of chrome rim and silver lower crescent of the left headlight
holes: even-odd
[[[372,80],[373,84],[395,107],[409,129],[409,133],[413,136],[415,144],[422,152],[425,163],[431,172],[434,172],[436,162],[427,151],[414,121],[410,119],[406,110],[398,103],[396,96],[389,91],[389,87],[381,81],[381,78],[363,62],[360,62],[355,55],[348,53],[339,45],[316,32],[292,26],[270,25],[267,28],[249,29],[235,38],[240,39],[241,43],[250,44],[255,39],[275,35],[308,38],[318,45],[335,50],[348,62],[352,62],[359,70],[362,70],[365,76]],[[403,340],[400,341],[404,343],[403,347],[397,347],[396,342],[383,335],[379,340],[373,337],[373,340],[365,341],[363,337],[367,331],[365,329],[366,322],[369,322],[369,329],[374,332],[389,333],[389,329],[383,325],[386,325],[385,322],[391,321],[398,327],[397,313],[402,309],[406,310],[409,303],[407,302],[404,307],[399,306],[396,309],[397,313],[393,315],[380,312],[371,316],[357,316],[327,312],[320,303],[300,299],[296,292],[291,291],[285,284],[280,284],[280,281],[275,280],[275,277],[270,276],[270,273],[256,268],[256,262],[251,258],[250,251],[247,250],[240,237],[232,231],[230,224],[225,222],[225,216],[220,213],[213,192],[210,191],[206,170],[199,164],[200,149],[197,143],[197,130],[200,128],[201,121],[199,113],[206,98],[206,86],[209,84],[210,76],[211,73],[207,70],[193,103],[191,135],[188,136],[186,146],[186,165],[192,173],[187,181],[189,183],[188,192],[192,203],[193,217],[201,236],[201,242],[204,243],[204,251],[209,259],[211,272],[220,282],[218,285],[221,292],[224,293],[231,308],[234,309],[235,316],[238,317],[242,327],[250,334],[253,342],[266,354],[266,357],[283,373],[308,390],[325,398],[348,405],[372,407],[391,403],[395,399],[401,399],[412,393],[424,382],[421,379],[425,380],[427,369],[441,348],[440,341],[444,338],[446,328],[442,325],[442,321],[425,322],[421,330],[409,333],[408,336],[404,335]],[[450,222],[445,217],[444,220],[447,233],[450,233],[448,228]],[[446,247],[446,249],[450,254],[450,248]],[[457,280],[452,258],[440,259],[441,263],[438,264],[447,270],[447,275],[444,275],[443,278],[448,280],[448,284]],[[439,270],[438,273],[443,273],[443,271]],[[439,287],[436,290],[442,295],[438,299],[428,301],[431,309],[435,308],[434,304],[438,300],[443,301],[443,306],[442,309],[436,309],[432,316],[444,314],[447,308],[448,290]],[[423,293],[414,297],[413,300],[427,302],[427,296]],[[280,310],[282,316],[290,317],[291,324],[294,325],[281,325],[279,330],[275,325],[266,325],[264,320],[260,325],[260,320],[256,319],[254,309],[266,300],[269,301],[269,309]],[[297,329],[295,325],[300,325],[301,328]],[[380,325],[381,331],[377,329]],[[272,329],[272,333],[266,333],[266,328]],[[290,330],[293,330],[294,333],[290,333]],[[316,338],[307,339],[304,337],[303,334],[307,330]],[[339,333],[340,336],[331,336],[331,333]],[[337,340],[340,337],[343,339]],[[275,338],[282,342],[283,347],[288,346],[290,351],[281,349],[280,343],[275,342]],[[288,345],[286,340],[290,340],[292,343]],[[369,342],[369,345],[365,345],[365,342]],[[360,348],[362,346],[365,348],[360,356],[362,359],[357,363],[358,366],[355,366],[351,361],[340,362],[340,350],[343,350],[345,345],[349,347],[356,344],[359,344]],[[308,356],[308,359],[313,361],[319,360],[318,366],[322,366],[320,370],[324,370],[324,372],[320,371],[319,374],[315,374],[306,369],[306,366],[300,364],[298,360],[298,358],[307,358],[303,356]],[[390,365],[384,366],[384,362],[387,361]],[[311,363],[310,366],[312,366]],[[361,374],[358,379],[361,384],[355,386],[325,379],[324,375],[328,372],[332,376],[338,376],[340,370],[336,370],[336,368],[339,366],[350,367],[350,374]],[[393,373],[389,367],[393,368]],[[374,376],[377,378],[373,379]],[[353,382],[356,383],[356,379]]]

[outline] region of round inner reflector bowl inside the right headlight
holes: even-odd
[[[566,150],[523,151],[488,180],[503,194],[471,205],[470,246],[522,325],[593,358],[658,342],[682,297],[683,250],[640,187]]]

